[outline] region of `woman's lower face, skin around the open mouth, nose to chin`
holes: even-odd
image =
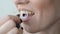
[[[55,20],[53,0],[14,0],[18,10],[27,9],[35,13],[23,28],[28,32],[39,32],[47,29]],[[20,11],[19,11],[20,12]]]

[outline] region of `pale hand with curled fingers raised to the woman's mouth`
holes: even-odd
[[[0,34],[17,34],[19,30],[16,28],[16,23],[20,23],[17,16],[5,16],[0,19]]]

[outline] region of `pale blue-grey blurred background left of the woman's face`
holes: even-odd
[[[13,0],[0,0],[0,18],[5,15],[16,15],[18,10]]]

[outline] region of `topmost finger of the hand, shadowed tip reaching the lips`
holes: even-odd
[[[0,26],[3,25],[8,20],[13,20],[13,21],[15,21],[15,23],[21,23],[18,16],[8,15],[8,16],[0,19]]]

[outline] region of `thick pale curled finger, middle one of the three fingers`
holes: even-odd
[[[0,27],[0,34],[5,34],[7,33],[9,30],[11,30],[13,27],[15,27],[15,22],[13,20],[9,20],[7,21],[5,24],[3,24]]]

